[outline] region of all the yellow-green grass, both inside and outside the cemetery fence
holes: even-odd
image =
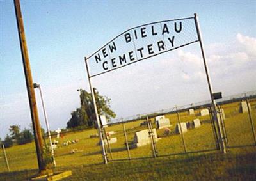
[[[252,107],[252,118],[256,125],[256,100],[250,100]],[[248,113],[239,113],[239,102],[223,105],[225,111],[225,127],[230,147],[253,145],[253,134]],[[199,110],[196,110],[196,115]],[[189,115],[187,112],[180,113],[181,122],[191,122],[194,118],[200,118],[202,126],[189,129],[184,134],[186,148],[189,154],[184,153],[182,139],[179,134],[164,136],[163,130],[157,130],[161,140],[157,141],[159,156],[157,159],[146,159],[152,157],[151,145],[131,149],[131,161],[111,161],[109,164],[102,163],[99,138],[90,138],[97,130],[89,129],[69,133],[60,138],[56,150],[56,171],[71,169],[72,177],[68,179],[80,180],[255,180],[256,176],[256,147],[230,148],[223,155],[216,149],[212,125],[209,116]],[[167,114],[174,132],[177,124],[177,114]],[[134,133],[147,129],[140,126],[143,120],[125,123],[129,143],[134,138]],[[154,125],[154,123],[153,123]],[[155,125],[154,125],[155,126]],[[118,139],[117,143],[111,144],[113,159],[127,159],[125,137],[122,124],[106,127],[106,131],[114,130],[113,137]],[[78,138],[79,143],[62,146],[68,140]],[[74,154],[70,150],[77,149]],[[199,152],[199,151],[208,152]],[[2,150],[1,150],[2,152]],[[196,153],[197,152],[197,153]],[[4,157],[0,156],[0,180],[26,180],[35,175],[37,162],[35,154],[35,143],[26,145],[15,145],[6,149],[11,173],[7,173]],[[171,155],[161,157],[163,155]],[[136,159],[145,157],[145,159]],[[111,157],[109,155],[109,159]]]

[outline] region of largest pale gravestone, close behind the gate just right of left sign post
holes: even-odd
[[[151,143],[151,138],[148,132],[149,132],[148,129],[136,132],[133,139],[133,143],[135,147],[138,148],[140,146],[148,145]],[[156,129],[152,129],[152,132],[154,134],[154,141],[158,141]]]

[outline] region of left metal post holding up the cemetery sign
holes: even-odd
[[[98,125],[98,132],[99,132],[99,136],[100,136],[100,143],[101,143],[101,148],[102,148],[103,160],[104,160],[104,163],[107,164],[108,163],[108,158],[107,158],[107,155],[106,155],[106,150],[105,150],[105,147],[104,147],[104,141],[103,141],[103,138],[102,138],[102,130],[101,130],[101,125],[100,125],[100,120],[99,120],[99,114],[98,114],[97,104],[96,104],[95,95],[94,95],[92,82],[91,82],[91,78],[90,78],[90,72],[89,72],[90,70],[89,70],[89,67],[87,65],[86,57],[84,58],[84,61],[85,61],[85,65],[86,65],[86,72],[87,72],[87,76],[88,76],[88,82],[89,82],[90,90],[91,90],[91,93],[92,93],[93,107],[94,107],[94,110],[95,110],[95,116],[96,116],[97,125]]]

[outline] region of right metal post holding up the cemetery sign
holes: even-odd
[[[214,122],[218,123],[218,134],[219,134],[219,141],[220,141],[220,145],[221,145],[221,152],[226,153],[226,146],[225,146],[225,143],[224,143],[224,140],[223,140],[223,134],[222,134],[222,131],[221,131],[221,123],[220,123],[220,120],[217,117],[216,102],[215,102],[215,100],[213,98],[213,95],[212,95],[211,79],[210,79],[210,75],[209,75],[209,72],[208,72],[208,66],[207,66],[206,59],[205,59],[204,45],[203,45],[203,42],[202,42],[200,26],[199,26],[198,17],[196,15],[196,13],[195,13],[194,18],[195,18],[196,32],[197,32],[197,35],[198,35],[198,40],[200,42],[202,57],[203,57],[203,60],[204,60],[204,68],[205,68],[205,74],[206,74],[206,77],[207,77],[207,83],[208,83],[209,91],[210,91],[210,94],[211,94],[211,102],[212,102],[213,114],[214,114],[213,120],[214,120]]]

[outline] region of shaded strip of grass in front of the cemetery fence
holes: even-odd
[[[138,159],[58,167],[72,169],[64,180],[255,180],[256,149],[233,148],[226,155],[218,152],[191,153],[157,159]],[[0,173],[1,180],[27,180],[36,169]]]

